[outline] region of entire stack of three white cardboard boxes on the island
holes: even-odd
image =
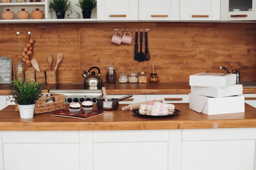
[[[236,74],[198,73],[189,76],[189,108],[207,115],[245,112],[243,85]]]

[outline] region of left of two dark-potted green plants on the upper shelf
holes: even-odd
[[[65,12],[72,9],[72,4],[69,0],[52,0],[49,2],[49,11],[55,11],[57,19],[64,19]]]

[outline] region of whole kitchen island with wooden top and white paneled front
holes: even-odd
[[[255,170],[256,108],[148,117],[107,111],[90,119],[0,111],[0,170]],[[67,106],[68,107],[68,106]],[[94,106],[94,109],[97,109]],[[29,159],[29,160],[27,160]]]

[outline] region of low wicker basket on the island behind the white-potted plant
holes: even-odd
[[[53,103],[46,103],[47,97],[40,97],[35,103],[34,114],[53,112],[56,110],[65,109],[65,95],[51,94]],[[15,104],[15,110],[19,111],[18,104]]]

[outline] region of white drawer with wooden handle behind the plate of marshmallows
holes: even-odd
[[[189,94],[147,95],[148,100],[163,100],[163,103],[189,103]]]

